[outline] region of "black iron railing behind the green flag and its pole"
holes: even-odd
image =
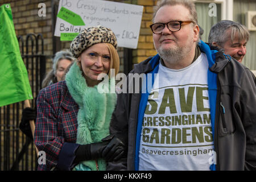
[[[43,35],[28,34],[25,41],[18,36],[18,42],[35,98],[46,73]],[[34,107],[35,99],[30,102]],[[23,108],[23,102],[0,107],[0,171],[36,170],[38,160],[33,141],[19,130]]]

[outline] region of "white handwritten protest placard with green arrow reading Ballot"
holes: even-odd
[[[143,6],[101,0],[60,0],[55,36],[78,33],[86,27],[111,28],[118,47],[137,48]],[[73,34],[76,35],[76,34]],[[67,40],[61,38],[61,40]]]

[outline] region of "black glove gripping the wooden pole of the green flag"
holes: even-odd
[[[31,107],[26,107],[22,111],[22,119],[19,124],[19,129],[24,133],[28,138],[33,140],[32,131],[30,127],[30,120],[36,119],[36,109]]]

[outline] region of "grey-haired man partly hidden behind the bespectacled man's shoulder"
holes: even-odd
[[[242,62],[250,33],[241,23],[221,20],[210,29],[208,42],[224,49],[226,55]]]

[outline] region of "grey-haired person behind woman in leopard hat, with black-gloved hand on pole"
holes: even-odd
[[[53,57],[53,65],[51,71],[49,71],[42,82],[42,88],[49,86],[51,84],[55,84],[56,82],[61,80],[63,77],[65,70],[71,63],[73,63],[75,59],[72,57],[71,52],[68,50],[62,50],[56,52]],[[37,98],[37,97],[36,97]],[[35,100],[36,100],[35,98]],[[30,123],[29,121],[36,119],[36,107],[26,107],[22,110],[22,118],[19,124],[19,129],[24,133],[28,138],[33,140]]]

